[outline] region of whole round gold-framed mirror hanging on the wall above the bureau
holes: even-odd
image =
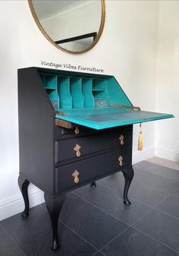
[[[58,49],[92,49],[105,24],[105,0],[28,0],[37,26]]]

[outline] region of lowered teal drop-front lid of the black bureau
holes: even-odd
[[[55,115],[55,117],[96,130],[174,117],[171,114],[146,112],[114,106],[101,109],[63,109],[61,114]]]

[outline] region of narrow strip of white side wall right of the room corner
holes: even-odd
[[[175,119],[155,125],[156,156],[179,162],[179,2],[159,2],[156,110]]]

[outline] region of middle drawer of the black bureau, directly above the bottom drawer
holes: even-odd
[[[91,153],[98,153],[111,148],[132,146],[132,130],[118,129],[111,132],[102,132],[88,136],[55,141],[55,163],[77,160]]]

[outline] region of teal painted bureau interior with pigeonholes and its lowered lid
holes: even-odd
[[[113,76],[69,71],[39,71],[39,75],[54,109],[64,112],[57,119],[100,130],[174,117],[109,106],[133,106]]]

